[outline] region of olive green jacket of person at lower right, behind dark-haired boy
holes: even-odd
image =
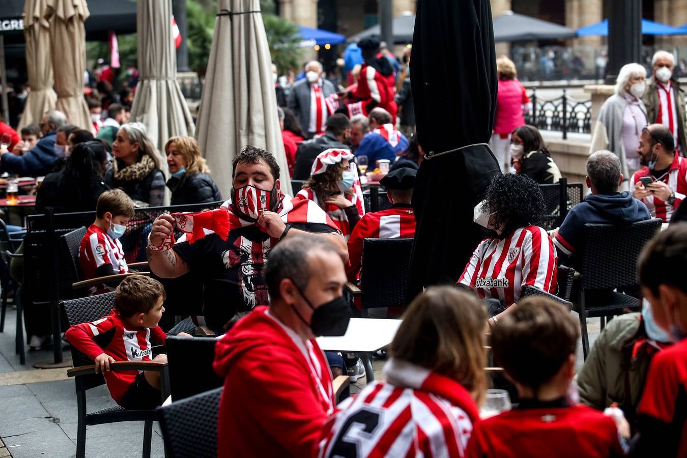
[[[644,339],[632,358],[634,343]],[[609,321],[577,375],[580,401],[603,410],[613,402],[632,424],[642,396],[646,373],[657,348],[640,329],[640,313],[620,315]]]

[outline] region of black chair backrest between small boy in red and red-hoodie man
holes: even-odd
[[[173,402],[222,386],[224,379],[212,369],[216,343],[216,339],[208,337],[166,339]]]

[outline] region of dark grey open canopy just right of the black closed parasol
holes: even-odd
[[[575,31],[532,16],[506,11],[494,18],[494,41],[537,41],[574,38]]]

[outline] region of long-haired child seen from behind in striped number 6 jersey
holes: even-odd
[[[376,381],[339,404],[319,457],[465,455],[484,398],[484,307],[432,286],[408,308]]]

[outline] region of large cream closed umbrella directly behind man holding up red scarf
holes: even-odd
[[[218,10],[198,113],[201,151],[223,196],[232,188],[232,159],[246,145],[274,155],[290,194],[260,2],[219,0]]]

